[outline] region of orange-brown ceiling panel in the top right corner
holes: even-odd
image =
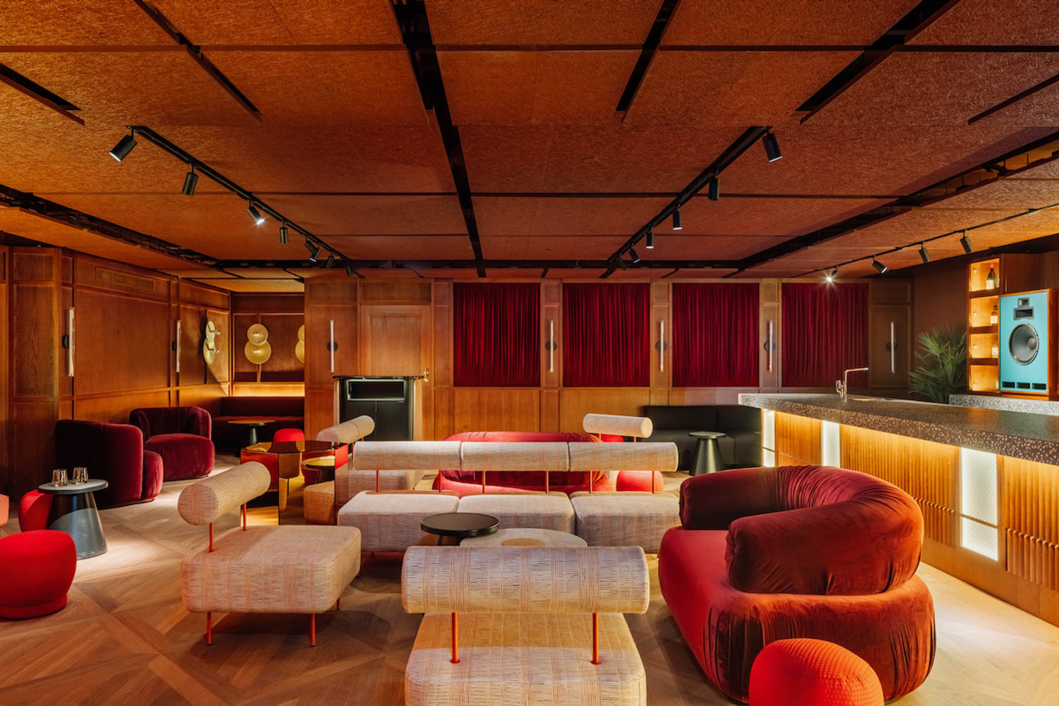
[[[961,0],[912,44],[1054,44],[1059,4],[1037,0]]]

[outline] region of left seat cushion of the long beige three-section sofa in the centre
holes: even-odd
[[[417,544],[436,544],[437,538],[419,527],[424,518],[455,512],[460,496],[454,492],[365,490],[338,511],[338,524],[360,530],[363,551],[403,551]]]

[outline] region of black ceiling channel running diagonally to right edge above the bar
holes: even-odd
[[[759,253],[744,257],[737,270],[732,274],[738,274],[744,270],[749,270],[752,267],[757,267],[758,265],[764,265],[769,260],[776,259],[777,257],[783,257],[784,255],[789,255],[798,250],[804,250],[805,248],[810,248],[812,246],[824,242],[825,240],[830,240],[837,238],[841,235],[846,235],[852,233],[854,231],[865,228],[867,225],[874,225],[876,223],[882,222],[889,218],[894,218],[903,213],[908,213],[916,207],[921,207],[925,205],[930,205],[932,203],[937,203],[944,201],[945,199],[956,196],[957,194],[965,194],[969,191],[981,188],[987,184],[994,183],[998,179],[1004,179],[1006,177],[1025,171],[1026,169],[1031,169],[1047,162],[1053,162],[1059,160],[1059,144],[1055,145],[1055,149],[1046,149],[1042,151],[1037,159],[1033,159],[1029,152],[1039,150],[1042,147],[1048,147],[1049,143],[1056,143],[1059,141],[1059,131],[1053,132],[1040,140],[1035,140],[1028,145],[1024,145],[1018,149],[1012,149],[1009,152],[1005,152],[1000,157],[991,159],[981,166],[967,169],[961,174],[957,174],[948,179],[935,182],[926,188],[921,188],[918,192],[902,196],[900,198],[894,199],[890,203],[883,204],[877,209],[873,209],[866,213],[862,213],[852,218],[847,218],[841,222],[828,225],[827,228],[813,231],[812,233],[807,233],[801,235],[790,240],[780,242],[772,248],[767,248]],[[1004,164],[1005,161],[1020,158],[1025,156],[1025,162],[1018,165],[1017,168],[1008,167]],[[1023,214],[1024,215],[1024,214]],[[945,237],[949,234],[941,234],[937,236],[931,236],[929,238],[916,238],[911,243],[905,243],[899,247],[895,247],[889,252],[896,252],[897,250],[903,250],[908,248],[909,245],[916,245],[923,240],[936,240],[939,237]],[[867,256],[858,259],[866,259]],[[850,260],[857,261],[857,260]],[[848,263],[845,263],[848,265]],[[815,270],[813,270],[815,271]],[[731,275],[728,275],[731,276]]]

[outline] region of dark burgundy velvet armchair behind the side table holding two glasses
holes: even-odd
[[[89,477],[106,481],[93,493],[100,507],[154,500],[162,489],[162,457],[143,448],[143,432],[132,424],[55,422],[55,465],[71,475],[84,466]]]

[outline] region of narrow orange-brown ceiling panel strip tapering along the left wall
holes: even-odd
[[[163,269],[186,265],[176,257],[72,228],[19,209],[0,207],[0,231],[138,267]]]

